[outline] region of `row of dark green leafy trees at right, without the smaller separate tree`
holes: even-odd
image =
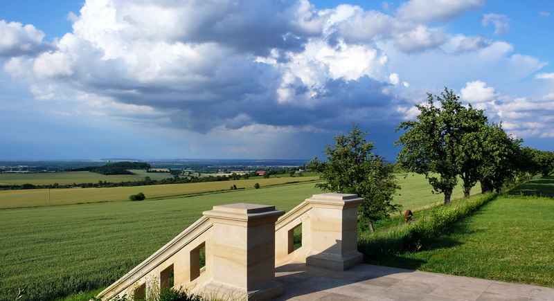
[[[488,122],[483,110],[464,107],[452,90],[445,88],[440,96],[428,93],[427,103],[415,107],[420,111],[417,120],[397,127],[404,133],[395,143],[402,146],[396,162],[425,174],[433,189],[445,195],[445,203],[458,178],[468,197],[478,182],[482,192],[500,192],[522,174],[546,175],[554,169],[552,152],[521,147],[523,140]]]

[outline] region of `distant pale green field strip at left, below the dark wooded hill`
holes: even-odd
[[[96,172],[45,172],[17,174],[0,174],[0,185],[51,185],[58,183],[60,185],[71,185],[73,183],[98,183],[98,181],[107,182],[126,182],[141,181],[145,176],[150,176],[153,180],[171,178],[166,172],[146,172],[145,170],[131,170],[134,174],[114,174],[105,176]]]

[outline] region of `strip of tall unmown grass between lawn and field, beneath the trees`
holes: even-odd
[[[358,237],[358,250],[366,257],[395,254],[405,250],[418,250],[422,240],[440,235],[456,221],[471,215],[497,194],[480,194],[467,199],[452,201],[444,206],[434,206],[406,226],[375,232],[366,231]]]

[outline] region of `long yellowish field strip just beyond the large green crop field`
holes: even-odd
[[[253,188],[256,183],[260,183],[263,187],[267,185],[279,185],[292,181],[314,181],[316,179],[318,179],[316,176],[249,179],[235,181],[235,185],[237,188]],[[175,197],[185,194],[229,190],[231,185],[233,185],[233,181],[114,188],[0,190],[0,209],[57,206],[75,203],[128,201],[129,195],[136,194],[138,192],[143,192],[147,199],[157,199],[161,197]],[[312,183],[312,185],[314,184]]]

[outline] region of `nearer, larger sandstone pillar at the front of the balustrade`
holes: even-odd
[[[248,203],[204,212],[213,222],[213,281],[206,290],[224,300],[281,295],[283,284],[275,280],[275,222],[284,213]]]

